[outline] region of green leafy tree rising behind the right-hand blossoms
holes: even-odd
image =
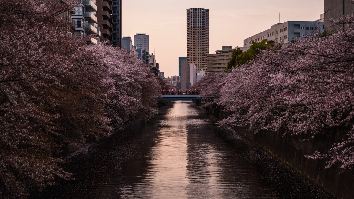
[[[259,43],[252,41],[252,45],[247,51],[242,52],[241,49],[234,50],[225,70],[228,71],[236,66],[245,64],[254,59],[262,50],[269,50],[273,46],[274,41],[268,41],[267,39],[263,39]]]

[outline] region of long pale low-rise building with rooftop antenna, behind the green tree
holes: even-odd
[[[321,21],[287,21],[272,25],[270,29],[253,35],[244,40],[244,47],[250,47],[252,41],[261,42],[263,39],[272,40],[275,42],[287,43],[294,39],[299,39],[303,35],[313,34],[319,28],[323,32],[325,22]]]

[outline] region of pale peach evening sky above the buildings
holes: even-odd
[[[243,40],[279,22],[315,21],[324,0],[123,0],[124,36],[147,33],[150,53],[165,77],[178,75],[178,57],[187,56],[187,9],[209,9],[209,53]],[[133,40],[133,39],[132,39]],[[134,41],[133,41],[134,42]]]

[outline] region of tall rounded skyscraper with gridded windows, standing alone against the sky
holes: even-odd
[[[195,64],[196,70],[207,71],[209,53],[209,10],[187,9],[187,64]]]

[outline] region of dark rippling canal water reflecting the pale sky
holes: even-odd
[[[192,101],[70,157],[75,180],[32,198],[331,198]]]

